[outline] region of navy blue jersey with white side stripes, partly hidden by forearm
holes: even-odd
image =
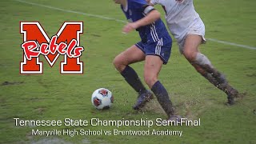
[[[129,22],[136,22],[146,16],[147,6],[149,5],[145,0],[127,0],[126,7],[121,5],[121,8]],[[166,26],[160,18],[150,25],[139,27],[137,31],[142,38],[142,43],[158,42],[166,35],[169,36]]]

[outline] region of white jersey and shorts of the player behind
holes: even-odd
[[[194,10],[193,0],[183,0],[183,2],[176,2],[175,0],[151,0],[151,3],[153,5],[162,5],[166,11],[166,23],[170,33],[174,35],[174,38],[178,42],[185,38],[190,28],[195,24],[204,29],[204,24],[199,14]],[[204,36],[204,30],[202,36]]]

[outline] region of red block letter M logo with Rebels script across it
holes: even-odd
[[[20,63],[21,74],[42,74],[42,62],[39,55],[46,58],[50,66],[62,54],[61,74],[82,74],[83,62],[80,56],[84,48],[79,46],[82,34],[82,22],[64,22],[58,33],[49,38],[39,22],[20,22],[23,34],[23,62]]]

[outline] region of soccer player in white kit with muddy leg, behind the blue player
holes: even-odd
[[[233,105],[238,97],[235,90],[218,72],[210,60],[201,54],[198,46],[205,43],[205,25],[199,14],[194,10],[193,0],[146,0],[150,5],[160,4],[166,12],[166,23],[170,33],[178,41],[181,54],[209,82],[227,94],[227,104]]]

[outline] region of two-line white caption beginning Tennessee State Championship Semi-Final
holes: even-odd
[[[166,121],[162,118],[156,118],[155,120],[150,119],[138,119],[138,120],[126,120],[122,118],[121,120],[101,120],[99,118],[86,119],[72,119],[65,118],[62,120],[23,120],[20,118],[14,118],[15,126],[115,126],[116,128],[122,126],[145,126],[150,128],[150,126],[200,126],[200,118],[196,120],[189,120],[187,118],[182,118],[180,122],[178,121]],[[81,128],[81,127],[80,127]],[[167,127],[167,130],[84,130],[84,129],[65,129],[65,130],[31,130],[31,135],[41,135],[41,136],[53,136],[53,135],[68,135],[73,137],[75,135],[177,135],[182,136],[182,131],[170,130],[173,127]]]

